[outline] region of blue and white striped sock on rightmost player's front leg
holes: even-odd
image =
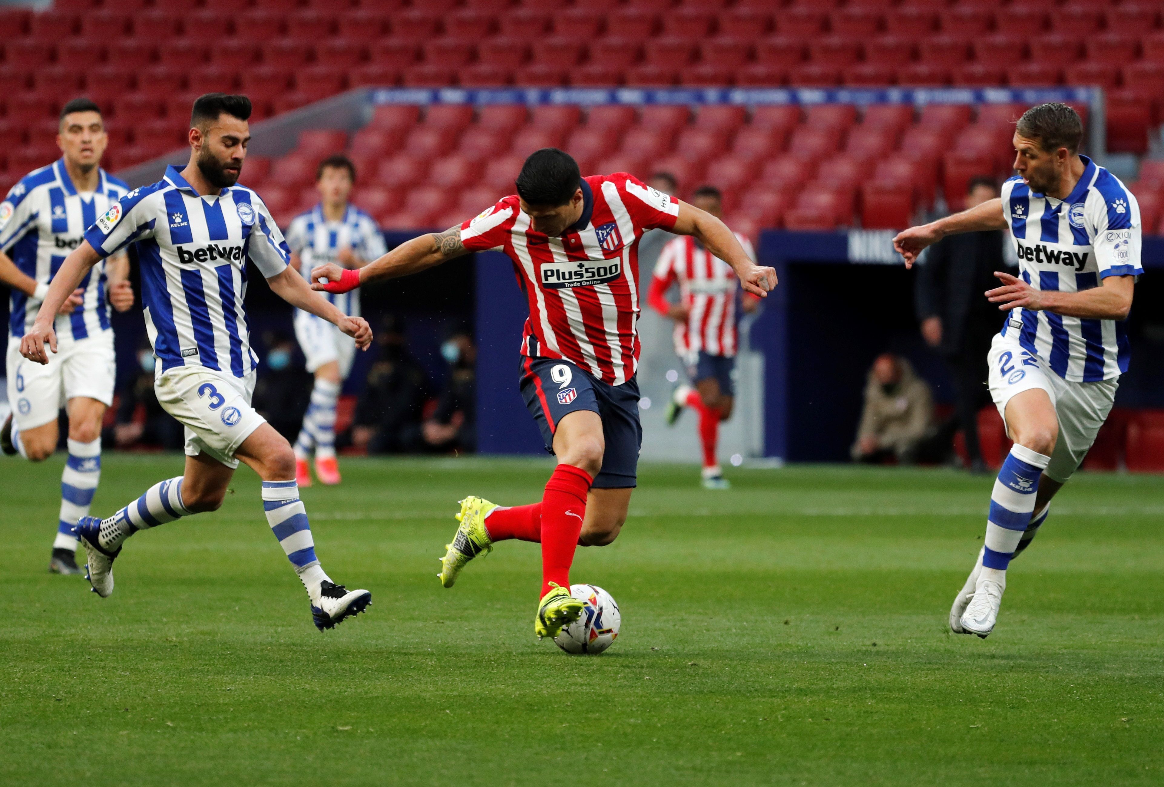
[[[982,569],[1006,572],[1018,548],[1018,541],[1031,524],[1038,478],[1051,461],[1037,452],[1014,445],[1002,462],[991,494],[991,513],[986,523],[986,550]]]

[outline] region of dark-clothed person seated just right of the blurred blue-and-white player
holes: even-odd
[[[428,375],[412,356],[399,319],[388,314],[376,328],[377,356],[356,402],[352,445],[369,454],[420,451],[420,420]]]

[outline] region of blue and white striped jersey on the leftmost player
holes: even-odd
[[[99,170],[97,191],[77,193],[65,171],[64,159],[33,170],[0,203],[0,250],[37,284],[48,284],[69,253],[80,246],[85,228],[121,199],[129,186]],[[58,341],[86,339],[109,329],[109,306],[105,300],[105,262],[81,281],[85,303],[71,314],[57,317],[54,329]],[[13,336],[33,328],[37,298],[12,291],[8,327]]]

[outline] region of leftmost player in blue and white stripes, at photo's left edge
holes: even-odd
[[[55,310],[59,352],[47,366],[28,363],[20,341],[65,255],[85,228],[129,187],[101,169],[108,143],[101,109],[73,99],[61,111],[57,162],[26,175],[0,203],[0,282],[12,288],[8,402],[0,449],[40,462],[57,448],[57,413],[69,412],[69,460],[61,476],[61,517],[49,570],[78,574],[73,526],[88,513],[101,477],[101,420],[113,404],[115,361],[109,304],[134,305],[129,260],[119,253],[95,264]]]

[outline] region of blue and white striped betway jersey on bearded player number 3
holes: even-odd
[[[137,243],[157,374],[201,366],[243,377],[257,366],[243,309],[246,262],[270,278],[291,255],[254,191],[230,186],[200,197],[168,166],[164,179],[111,206],[85,240],[101,256]]]

